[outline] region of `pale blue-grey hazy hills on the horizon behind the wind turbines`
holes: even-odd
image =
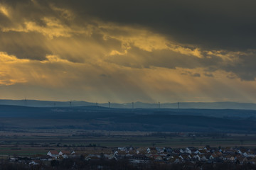
[[[97,103],[98,106],[109,107],[109,103]],[[38,101],[38,100],[0,100],[0,105],[31,106],[31,107],[70,107],[70,101]],[[71,101],[71,106],[96,106],[87,101]],[[245,109],[256,110],[256,103],[238,102],[180,102],[180,108],[206,109]],[[132,108],[132,103],[110,103],[111,108]],[[178,108],[178,103],[161,103],[161,108]],[[134,102],[134,108],[159,108],[158,103]]]

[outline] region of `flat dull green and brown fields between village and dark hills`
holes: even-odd
[[[88,146],[96,147],[256,147],[256,135],[228,134],[223,137],[188,137],[187,133],[176,136],[162,134],[148,135],[149,132],[80,132],[60,130],[61,132],[1,132],[0,155],[46,154],[49,149],[80,150]],[[62,135],[61,135],[62,134]],[[71,135],[73,134],[73,135]],[[81,135],[82,134],[82,135]],[[97,135],[97,136],[93,136]],[[197,134],[196,134],[197,135]]]

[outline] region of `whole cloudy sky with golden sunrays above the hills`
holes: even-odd
[[[0,98],[256,103],[255,6],[0,0]]]

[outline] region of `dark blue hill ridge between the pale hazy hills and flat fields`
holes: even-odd
[[[256,111],[0,105],[0,130],[31,128],[255,134]]]

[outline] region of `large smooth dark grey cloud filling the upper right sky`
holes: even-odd
[[[256,47],[256,1],[53,1],[80,16],[142,25],[177,42],[210,49]],[[60,3],[61,2],[61,3]]]

